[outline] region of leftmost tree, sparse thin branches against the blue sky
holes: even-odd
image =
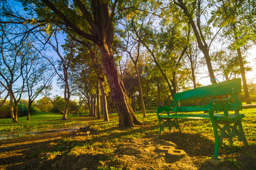
[[[20,32],[23,32],[23,28],[20,28],[20,32],[12,32],[9,24],[0,25],[0,83],[6,88],[10,95],[10,112],[13,122],[18,122],[18,103],[23,90],[24,82],[22,82],[22,88],[18,87],[15,89],[15,83],[21,80],[22,70],[26,62],[28,52],[31,49],[29,43],[25,43],[23,37],[20,39]],[[26,35],[28,36],[28,35]],[[21,80],[22,81],[22,80]],[[13,108],[13,102],[15,109]],[[15,111],[15,112],[14,112]]]

